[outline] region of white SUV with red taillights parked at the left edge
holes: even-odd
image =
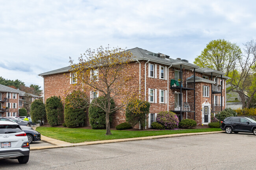
[[[0,121],[0,159],[18,159],[27,163],[30,144],[26,133],[20,126],[11,121]]]

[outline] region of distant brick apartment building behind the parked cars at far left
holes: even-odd
[[[19,116],[19,109],[24,107],[25,93],[0,84],[0,117]],[[37,95],[30,95],[32,102],[39,99]]]

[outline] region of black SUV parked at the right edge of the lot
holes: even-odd
[[[226,133],[248,132],[256,135],[256,121],[249,117],[227,117],[221,121],[221,129]]]

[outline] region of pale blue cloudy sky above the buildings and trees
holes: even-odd
[[[0,76],[43,89],[40,73],[86,49],[139,47],[193,63],[211,40],[256,39],[254,0],[0,1]]]

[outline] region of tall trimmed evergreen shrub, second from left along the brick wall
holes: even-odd
[[[63,105],[60,97],[52,96],[46,99],[45,103],[47,121],[51,126],[63,122]]]

